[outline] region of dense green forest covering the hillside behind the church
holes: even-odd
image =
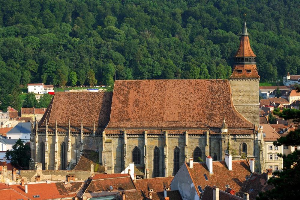
[[[298,0],[0,0],[1,107],[27,83],[226,79],[243,13],[261,80],[300,74]]]

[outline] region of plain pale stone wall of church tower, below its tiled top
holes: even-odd
[[[259,78],[232,78],[230,86],[235,109],[259,126]]]

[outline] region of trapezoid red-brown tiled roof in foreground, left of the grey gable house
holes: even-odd
[[[113,190],[110,190],[110,186]],[[96,174],[85,193],[99,191],[136,190],[136,187],[128,174]]]

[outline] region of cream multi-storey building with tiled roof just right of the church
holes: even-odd
[[[263,140],[265,142],[265,169],[278,171],[283,169],[283,159],[278,156],[283,153],[283,146],[274,146],[273,142],[280,138],[280,135],[269,124],[262,125]]]

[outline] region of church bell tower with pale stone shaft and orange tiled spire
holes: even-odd
[[[244,14],[246,16],[246,14]],[[247,32],[246,19],[241,42],[233,57],[233,72],[229,78],[235,109],[247,120],[259,126],[259,75],[256,55],[252,51]]]

